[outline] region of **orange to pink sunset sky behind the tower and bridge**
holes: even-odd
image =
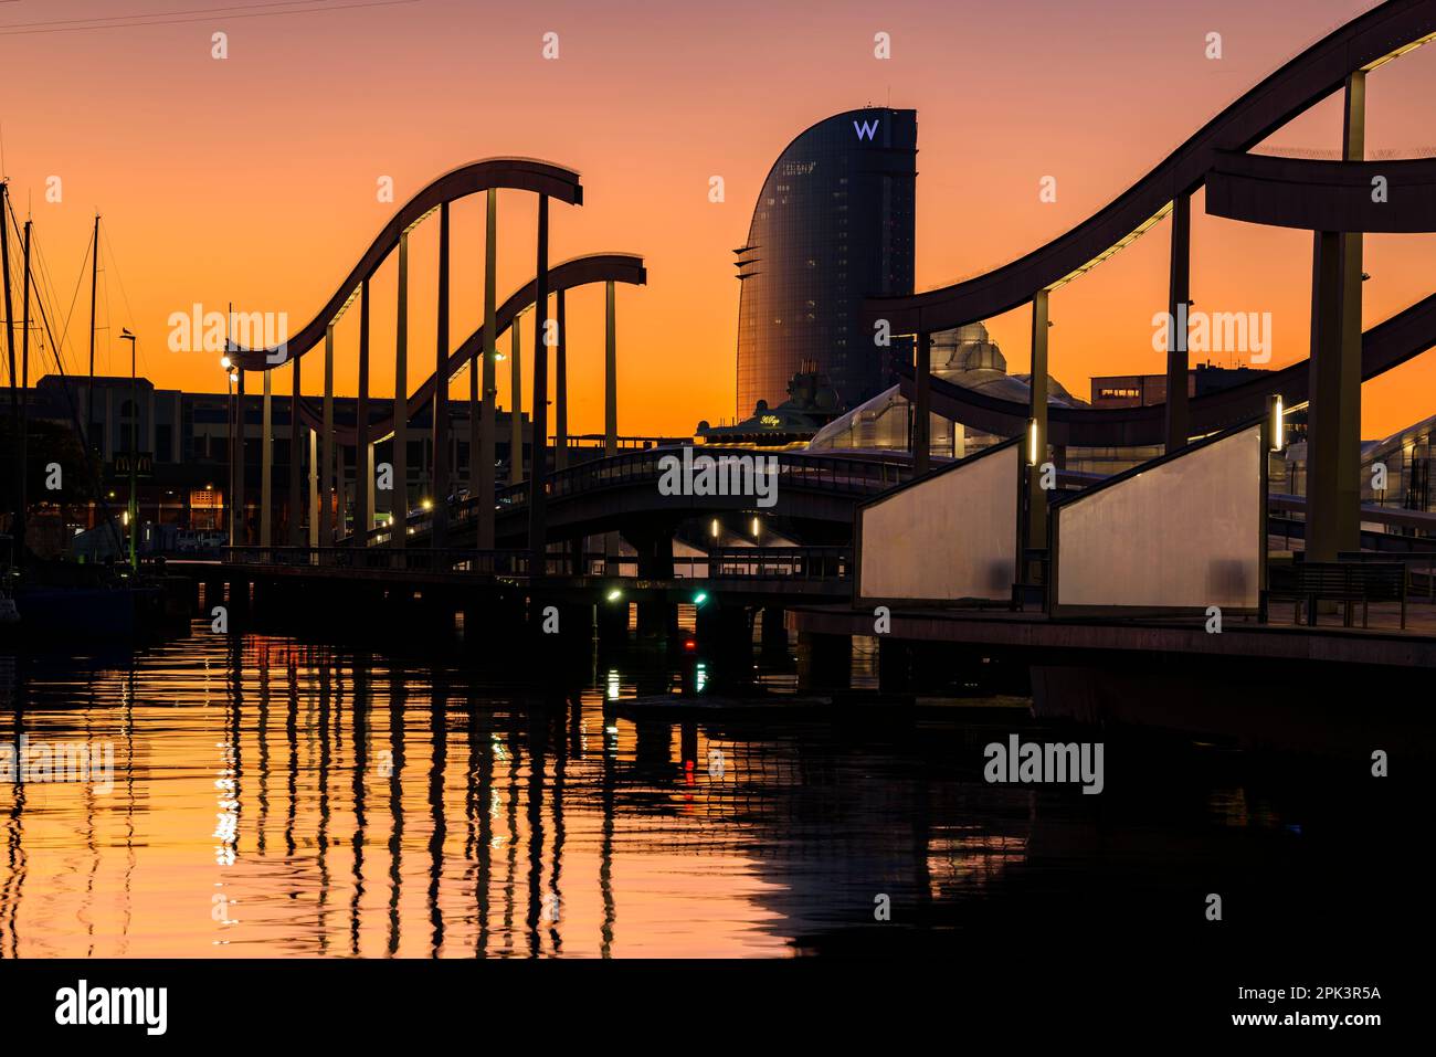
[[[62,319],[98,210],[96,369],[220,391],[210,353],[167,349],[194,303],[284,312],[297,332],[393,204],[439,172],[527,155],[583,174],[584,205],[553,207],[551,259],[642,253],[649,284],[619,290],[619,424],[689,434],[735,412],[738,283],[754,198],[778,152],[821,118],[866,103],[918,111],[918,287],[1004,263],[1104,205],[1203,121],[1360,0],[108,0],[0,3],[3,167],[32,211]],[[145,17],[116,17],[145,16]],[[108,17],[90,29],[85,19]],[[211,34],[228,57],[211,57]],[[559,34],[560,57],[541,57]],[[873,34],[892,36],[892,59]],[[1205,39],[1222,34],[1223,56]],[[1436,47],[1369,82],[1369,155],[1436,151]],[[1334,149],[1338,98],[1275,146]],[[46,181],[62,180],[60,202]],[[727,200],[708,200],[709,177]],[[1038,200],[1044,175],[1057,201]],[[533,273],[533,197],[500,195],[500,297]],[[411,382],[434,358],[437,224],[411,240]],[[1160,372],[1152,313],[1166,306],[1167,224],[1053,297],[1053,373],[1086,396],[1101,373]],[[457,340],[481,317],[482,200],[454,208]],[[1436,236],[1367,238],[1366,326],[1436,287]],[[392,392],[392,261],[375,297],[373,392]],[[1308,352],[1311,237],[1205,215],[1193,202],[1198,309],[1271,312],[1271,366]],[[66,363],[85,371],[88,276]],[[570,431],[603,427],[602,289],[570,294]],[[17,310],[19,315],[19,310]],[[353,392],[358,313],[339,327],[337,388]],[[1010,369],[1028,359],[1027,312],[989,320]],[[507,343],[507,337],[504,339]],[[526,323],[524,348],[531,348]],[[1221,358],[1215,358],[1221,362]],[[1231,362],[1228,358],[1226,362]],[[314,360],[317,363],[317,360]],[[424,368],[421,372],[419,368]],[[46,371],[32,369],[32,376]],[[527,373],[527,372],[526,372]],[[508,406],[507,365],[500,405]],[[1436,412],[1427,353],[1364,386],[1363,435]],[[314,391],[319,372],[306,371]],[[257,383],[253,386],[257,388]],[[276,391],[287,392],[289,373]],[[527,385],[526,385],[527,388]],[[467,378],[455,395],[468,391]],[[750,408],[742,408],[748,414]]]

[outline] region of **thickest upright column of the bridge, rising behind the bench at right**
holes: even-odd
[[[1366,155],[1366,73],[1346,83],[1343,158]],[[1311,405],[1307,434],[1307,554],[1333,562],[1361,546],[1360,231],[1318,231],[1311,279]]]

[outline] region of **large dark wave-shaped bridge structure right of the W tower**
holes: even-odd
[[[1436,303],[1413,304],[1363,335],[1366,231],[1436,228],[1436,162],[1373,164],[1366,154],[1366,80],[1371,70],[1436,40],[1436,0],[1390,0],[1360,14],[1284,63],[1203,125],[1103,210],[1018,260],[961,283],[908,296],[869,297],[875,340],[916,335],[916,363],[903,389],[913,404],[912,447],[926,471],[929,412],[936,409],[999,435],[1027,434],[1034,461],[1048,445],[1162,444],[1172,455],[1193,435],[1284,408],[1307,406],[1311,553],[1331,560],[1360,534],[1361,381],[1436,345]],[[1249,151],[1334,92],[1343,92],[1341,159],[1313,162]],[[1186,309],[1190,300],[1190,198],[1206,188],[1209,214],[1314,233],[1311,356],[1285,371],[1192,401]],[[1119,253],[1170,215],[1166,313],[1166,399],[1123,411],[1050,408],[1048,302],[1057,290]],[[1025,408],[931,376],[932,335],[1032,307],[1032,366]],[[1281,404],[1275,402],[1279,395]],[[1278,442],[1281,428],[1278,424]],[[1047,497],[1031,481],[1024,547],[1045,549]]]

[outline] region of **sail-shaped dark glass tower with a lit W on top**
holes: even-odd
[[[738,415],[777,405],[816,362],[846,406],[885,389],[912,340],[875,343],[863,297],[913,286],[918,112],[870,106],[820,121],[778,155],[735,250]]]

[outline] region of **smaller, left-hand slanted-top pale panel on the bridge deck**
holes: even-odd
[[[862,510],[859,596],[1011,599],[1021,454],[972,458]]]

